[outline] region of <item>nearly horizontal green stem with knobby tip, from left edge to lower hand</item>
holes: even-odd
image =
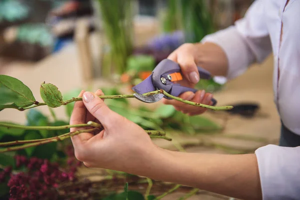
[[[26,126],[26,125],[0,122],[0,126],[6,127],[6,128],[19,128],[19,129],[24,129],[24,130],[61,130],[61,129],[67,129],[67,128],[73,128],[73,127],[86,127],[86,126],[102,127],[101,124],[93,122],[93,121],[88,121],[87,123],[82,123],[82,124],[59,125],[59,126]]]

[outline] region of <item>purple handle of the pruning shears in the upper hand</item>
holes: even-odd
[[[210,73],[197,66],[198,72],[200,75],[200,78],[202,79],[209,79],[211,78]],[[178,83],[173,83],[171,80],[168,79],[167,75],[174,72],[181,72],[180,66],[178,63],[170,60],[170,59],[163,59],[158,63],[158,65],[154,68],[152,73],[152,83],[156,88],[160,88],[168,92],[169,94],[173,96],[179,96],[181,93],[186,91],[192,91],[196,92],[197,90],[190,87],[181,86]],[[161,78],[164,78],[165,83],[161,81]],[[164,96],[164,98],[170,99],[167,96]],[[213,102],[213,105],[217,103],[217,101],[212,98],[211,101]]]

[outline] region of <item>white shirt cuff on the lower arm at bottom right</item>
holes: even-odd
[[[300,199],[300,146],[255,150],[263,200]]]

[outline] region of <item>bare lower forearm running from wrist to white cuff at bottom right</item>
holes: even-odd
[[[153,179],[188,185],[241,198],[261,199],[254,154],[182,153],[160,149],[138,173]]]

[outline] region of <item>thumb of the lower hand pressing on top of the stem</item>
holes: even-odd
[[[115,121],[117,114],[109,109],[99,96],[87,91],[83,93],[82,100],[89,113],[98,119],[104,128],[113,124],[112,122]]]

